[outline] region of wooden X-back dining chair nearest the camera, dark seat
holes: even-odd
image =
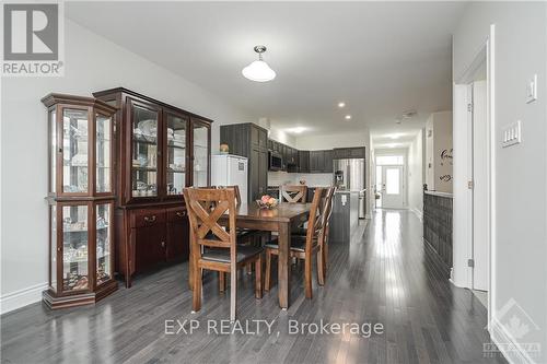
[[[193,262],[193,309],[201,309],[202,270],[230,274],[230,319],[235,319],[237,297],[237,270],[247,262],[256,266],[255,297],[261,298],[261,254],[256,246],[237,245],[235,228],[235,191],[224,188],[185,188],[184,197],[190,222]],[[219,219],[228,212],[228,227]],[[201,249],[203,248],[203,249]],[[223,274],[220,274],[223,277]],[[219,275],[219,277],[220,277]]]

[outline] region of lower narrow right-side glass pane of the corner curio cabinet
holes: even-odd
[[[112,202],[96,206],[96,285],[101,285],[112,278]]]

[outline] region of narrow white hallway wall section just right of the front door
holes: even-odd
[[[423,213],[423,130],[408,148],[408,208],[418,215]]]

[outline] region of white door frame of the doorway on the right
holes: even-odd
[[[473,221],[468,212],[473,207],[473,195],[467,189],[468,172],[472,171],[470,149],[467,145],[467,84],[477,67],[486,60],[487,67],[487,189],[488,189],[488,329],[496,307],[496,115],[494,115],[494,25],[490,25],[488,38],[481,45],[474,60],[466,71],[454,80],[454,218],[453,218],[453,272],[451,280],[457,286],[473,287],[473,271],[468,267],[468,259],[473,257]],[[465,129],[465,130],[464,130]],[[457,145],[456,145],[457,143]],[[459,156],[458,156],[459,154]]]

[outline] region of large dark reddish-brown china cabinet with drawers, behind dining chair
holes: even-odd
[[[188,259],[183,188],[210,185],[211,122],[118,87],[93,93],[117,108],[116,271],[135,273]]]

